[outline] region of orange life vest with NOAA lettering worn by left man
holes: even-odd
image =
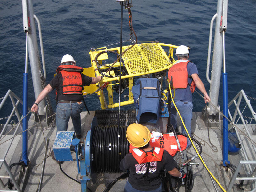
[[[82,76],[83,72],[82,67],[74,66],[74,65],[60,65],[57,68],[57,73],[61,73],[62,75],[62,86],[63,92],[62,94],[82,94],[83,84],[82,84]]]

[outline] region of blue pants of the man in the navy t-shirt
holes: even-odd
[[[189,101],[175,101],[175,104],[180,112],[180,115],[183,119],[183,122],[188,130],[189,135],[191,135],[191,119],[192,119],[192,109],[193,109],[193,104]],[[174,104],[171,104],[171,124],[174,129],[177,130],[177,110],[174,107]],[[181,132],[185,135],[187,135],[187,132],[185,131],[185,128],[183,124],[181,123]],[[187,148],[191,145],[191,142],[189,138],[187,138]]]

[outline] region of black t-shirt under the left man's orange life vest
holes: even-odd
[[[83,86],[89,86],[92,83],[92,77],[88,77],[84,74],[81,74],[82,76],[82,84]],[[53,79],[50,81],[50,85],[52,87],[52,89],[56,89],[57,91],[57,101],[61,101],[61,100],[68,100],[68,101],[79,101],[79,100],[83,100],[83,96],[82,94],[60,94],[62,93],[63,89],[62,89],[62,75],[61,73],[58,73],[55,77],[53,77]]]

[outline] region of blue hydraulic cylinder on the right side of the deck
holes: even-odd
[[[222,87],[223,87],[223,114],[228,117],[228,73],[222,73]],[[223,117],[223,166],[227,166],[228,161],[228,120]]]

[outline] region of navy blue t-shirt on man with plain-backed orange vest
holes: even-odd
[[[179,60],[178,62],[186,62],[188,60]],[[196,68],[196,65],[192,62],[189,62],[187,64],[187,70],[188,70],[188,75],[192,75],[194,73],[196,73],[198,75],[198,70]],[[188,77],[188,83],[192,82],[192,78]],[[173,95],[173,91],[172,91],[172,96]],[[190,101],[192,102],[192,93],[190,90],[190,86],[188,85],[187,88],[185,89],[175,89],[175,96],[174,96],[174,101]]]

